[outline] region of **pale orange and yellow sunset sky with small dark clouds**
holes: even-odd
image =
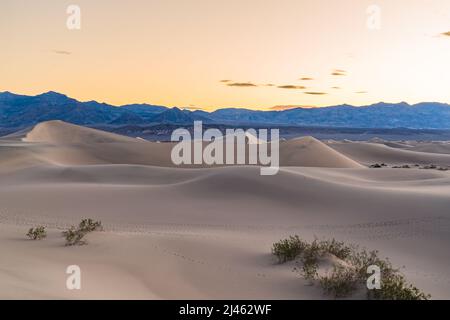
[[[0,91],[20,94],[205,110],[450,103],[448,0],[1,0],[0,39]]]

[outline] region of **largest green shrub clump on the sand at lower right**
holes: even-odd
[[[324,294],[334,298],[344,298],[353,294],[358,288],[366,288],[367,297],[377,300],[427,300],[431,296],[409,284],[399,269],[395,269],[389,259],[380,258],[378,251],[360,250],[357,246],[344,242],[314,239],[307,243],[298,236],[291,236],[273,245],[272,253],[280,262],[298,258],[302,264],[300,275],[313,284],[318,280]],[[331,254],[341,260],[334,263],[331,272],[319,275],[319,259]],[[376,265],[381,272],[381,288],[367,288],[367,270]]]

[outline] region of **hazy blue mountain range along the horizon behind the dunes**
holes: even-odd
[[[36,96],[0,93],[0,128],[25,128],[47,120],[87,126],[186,125],[201,120],[232,125],[450,129],[450,105],[380,102],[361,107],[337,105],[284,111],[226,108],[206,112],[150,104],[80,102],[53,91]]]

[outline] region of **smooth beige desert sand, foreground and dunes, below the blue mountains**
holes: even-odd
[[[58,121],[0,139],[0,298],[326,299],[271,256],[293,234],[377,249],[450,298],[450,171],[367,167],[448,166],[450,144],[289,140],[276,176],[177,168],[171,148]],[[105,231],[65,247],[82,218]],[[47,239],[28,240],[41,224]]]

